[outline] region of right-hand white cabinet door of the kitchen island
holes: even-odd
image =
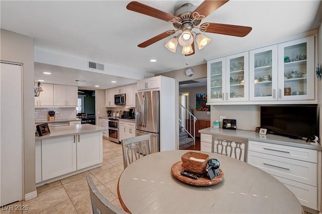
[[[77,170],[103,162],[102,132],[77,135]]]

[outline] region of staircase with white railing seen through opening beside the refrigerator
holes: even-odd
[[[181,115],[184,115],[182,119],[179,118],[179,129],[181,132],[179,132],[179,149],[186,149],[188,147],[191,147],[195,145],[196,137],[195,137],[195,131],[196,131],[196,120],[197,118],[191,114],[182,104],[179,103],[180,113]],[[189,124],[187,124],[187,120],[189,119]],[[189,127],[189,130],[186,129],[186,126]]]

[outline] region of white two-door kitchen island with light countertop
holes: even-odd
[[[50,128],[36,137],[36,186],[101,166],[106,128],[91,124]]]

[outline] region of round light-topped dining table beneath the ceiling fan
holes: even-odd
[[[127,166],[118,195],[130,213],[303,213],[293,193],[248,163],[216,153],[223,180],[211,186],[184,183],[171,167],[189,150],[157,152]],[[196,152],[196,151],[191,151]]]

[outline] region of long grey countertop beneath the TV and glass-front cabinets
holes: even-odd
[[[231,136],[231,137],[239,137],[239,138],[247,138],[251,141],[260,141],[264,143],[272,143],[272,144],[279,144],[279,145],[285,145],[285,146],[293,146],[293,147],[299,147],[299,148],[306,148],[306,149],[314,149],[314,150],[322,150],[322,146],[318,145],[312,145],[309,142],[305,142],[305,140],[300,139],[291,139],[288,137],[280,136],[280,135],[273,135],[273,134],[267,134],[267,135],[260,135],[259,133],[256,133],[254,131],[245,131],[245,130],[227,130],[227,129],[221,129],[221,128],[213,128],[208,127],[205,129],[199,130],[199,133],[203,134],[217,134],[217,135],[223,135],[223,136]]]

